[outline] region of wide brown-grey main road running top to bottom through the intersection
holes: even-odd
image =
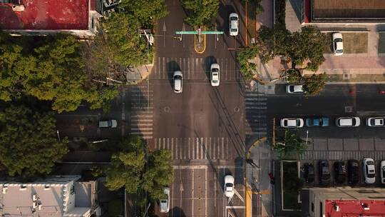
[[[193,31],[183,24],[180,1],[168,0],[169,14],[158,22],[155,64],[150,75],[153,109],[151,149],[173,153],[175,181],[170,186],[170,212],[165,216],[244,216],[239,197],[228,201],[223,177],[236,173],[236,189],[244,198],[244,87],[235,50],[245,44],[245,11],[238,1],[220,1],[215,21],[223,35],[207,35],[203,54],[194,49],[194,36],[175,39],[175,31]],[[239,36],[228,35],[228,16],[240,15]],[[220,65],[220,86],[210,85],[210,65]],[[173,72],[183,73],[183,93],[173,92]],[[236,167],[240,167],[237,168]],[[238,198],[238,199],[237,199]],[[234,207],[235,208],[234,208]]]

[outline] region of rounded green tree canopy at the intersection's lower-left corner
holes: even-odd
[[[123,151],[113,154],[112,166],[107,168],[105,185],[112,191],[125,188],[134,195],[148,192],[154,200],[161,198],[163,187],[173,181],[171,153],[156,150],[148,153],[143,138],[130,136],[120,146]]]

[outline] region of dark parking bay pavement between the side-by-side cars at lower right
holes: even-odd
[[[381,169],[380,169],[380,163],[381,161],[374,161],[374,164],[375,164],[375,168],[376,168],[376,183],[374,184],[366,184],[365,183],[365,179],[364,179],[364,164],[362,163],[362,159],[356,159],[359,161],[360,163],[360,166],[359,166],[359,183],[356,185],[356,187],[384,187],[383,184],[381,184],[381,175],[380,175],[380,172],[381,172]],[[346,180],[344,183],[336,183],[335,181],[335,173],[334,173],[334,162],[337,162],[337,161],[328,161],[329,162],[329,172],[330,172],[330,175],[331,175],[331,182],[330,182],[330,185],[329,186],[333,186],[333,187],[336,187],[336,186],[348,186],[348,178],[346,177]],[[303,169],[303,166],[304,166],[304,163],[312,163],[313,166],[314,166],[314,183],[306,183],[304,182],[304,186],[307,187],[307,188],[311,188],[311,187],[329,187],[329,186],[322,186],[320,185],[319,183],[319,160],[314,160],[314,161],[299,161],[299,176],[301,178],[304,178],[304,169]],[[345,163],[345,166],[347,168],[347,161],[344,161]],[[349,171],[347,171],[347,173],[349,173]]]

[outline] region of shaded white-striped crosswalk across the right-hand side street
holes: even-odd
[[[267,136],[267,97],[248,89],[245,92],[245,134]]]

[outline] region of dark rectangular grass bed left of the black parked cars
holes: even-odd
[[[283,194],[283,209],[292,209],[292,210],[299,210],[301,208],[301,204],[298,203],[298,194],[289,192],[290,189],[287,188],[287,185],[285,185],[285,177],[289,174],[297,174],[298,173],[298,167],[297,167],[297,161],[282,161],[282,194]]]

